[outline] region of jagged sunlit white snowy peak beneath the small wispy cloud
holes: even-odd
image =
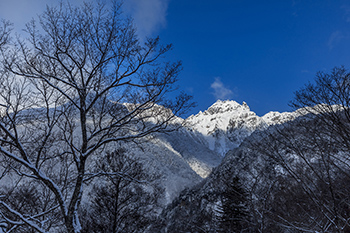
[[[189,130],[202,134],[208,147],[224,156],[227,151],[238,147],[255,130],[294,118],[294,113],[279,112],[270,112],[259,117],[250,111],[245,102],[240,105],[236,101],[218,100],[206,111],[192,115],[186,120]]]

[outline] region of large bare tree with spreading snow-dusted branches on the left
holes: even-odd
[[[65,231],[80,232],[85,181],[96,176],[91,157],[166,131],[191,107],[185,94],[167,99],[181,70],[163,59],[172,46],[158,38],[141,45],[120,7],[47,7],[39,24],[27,25],[27,40],[3,50],[1,159],[18,183],[40,183],[38,192],[48,189],[56,203],[32,214],[0,199],[9,225],[46,232],[54,226],[46,216],[59,209]]]

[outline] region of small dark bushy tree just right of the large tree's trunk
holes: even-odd
[[[97,169],[102,179],[90,192],[83,232],[144,232],[159,211],[163,193],[151,173],[123,149],[107,153]]]

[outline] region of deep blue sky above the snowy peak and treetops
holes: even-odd
[[[71,0],[80,4],[83,0]],[[17,28],[56,0],[0,0]],[[180,87],[207,109],[217,99],[247,102],[258,115],[288,111],[317,71],[350,68],[350,1],[125,0],[141,37],[172,43]]]

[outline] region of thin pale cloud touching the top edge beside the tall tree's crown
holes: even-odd
[[[125,0],[124,10],[134,19],[139,37],[152,36],[166,26],[169,0]]]

